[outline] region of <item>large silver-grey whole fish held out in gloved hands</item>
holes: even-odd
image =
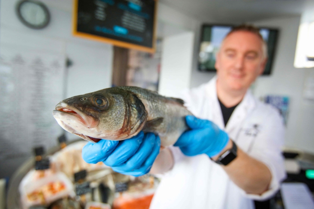
[[[53,110],[64,130],[87,141],[124,140],[143,131],[158,135],[162,147],[173,145],[189,129],[187,115],[192,113],[182,99],[134,86],[73,96]]]

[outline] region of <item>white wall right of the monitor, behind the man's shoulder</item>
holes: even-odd
[[[314,153],[314,102],[302,97],[305,79],[314,68],[293,67],[299,23],[300,17],[255,22],[257,26],[279,28],[280,34],[273,72],[257,79],[254,94],[257,97],[267,94],[289,96],[285,145]]]

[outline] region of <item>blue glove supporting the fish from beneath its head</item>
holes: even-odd
[[[82,157],[87,163],[102,161],[118,173],[141,176],[149,172],[159,149],[160,138],[141,131],[137,136],[122,141],[88,142],[83,147]]]

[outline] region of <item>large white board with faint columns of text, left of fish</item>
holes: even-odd
[[[61,127],[52,110],[63,99],[64,56],[1,45],[0,176],[33,148],[57,144]]]

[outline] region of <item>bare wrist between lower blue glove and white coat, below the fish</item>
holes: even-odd
[[[150,174],[163,174],[172,169],[174,164],[173,155],[170,149],[164,148],[160,150],[157,158],[155,159]]]

